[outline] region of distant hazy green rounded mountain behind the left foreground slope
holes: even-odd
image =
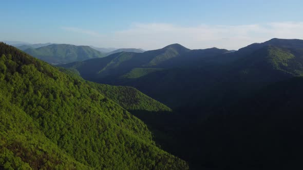
[[[66,44],[53,44],[36,49],[30,48],[24,50],[24,52],[55,65],[104,57],[101,52],[88,46],[73,46]]]

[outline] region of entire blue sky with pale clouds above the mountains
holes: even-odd
[[[103,48],[237,50],[271,38],[303,39],[303,1],[4,1],[0,40]]]

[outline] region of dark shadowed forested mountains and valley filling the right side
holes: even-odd
[[[62,67],[172,108],[132,113],[193,169],[288,169],[301,167],[302,66],[303,40],[273,38],[233,52],[173,44]]]

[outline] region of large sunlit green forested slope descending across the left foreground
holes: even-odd
[[[142,121],[85,81],[3,43],[0,54],[1,121],[11,125],[0,126],[0,167],[187,168],[155,145]]]

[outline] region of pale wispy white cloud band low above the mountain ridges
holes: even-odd
[[[254,42],[271,38],[303,39],[303,22],[277,22],[252,25],[199,25],[183,27],[165,23],[137,23],[130,28],[101,34],[79,28],[65,30],[91,35],[87,41],[99,47],[158,49],[179,43],[191,49],[225,48],[239,49]],[[96,38],[94,38],[96,37]],[[83,40],[83,39],[82,39]]]

